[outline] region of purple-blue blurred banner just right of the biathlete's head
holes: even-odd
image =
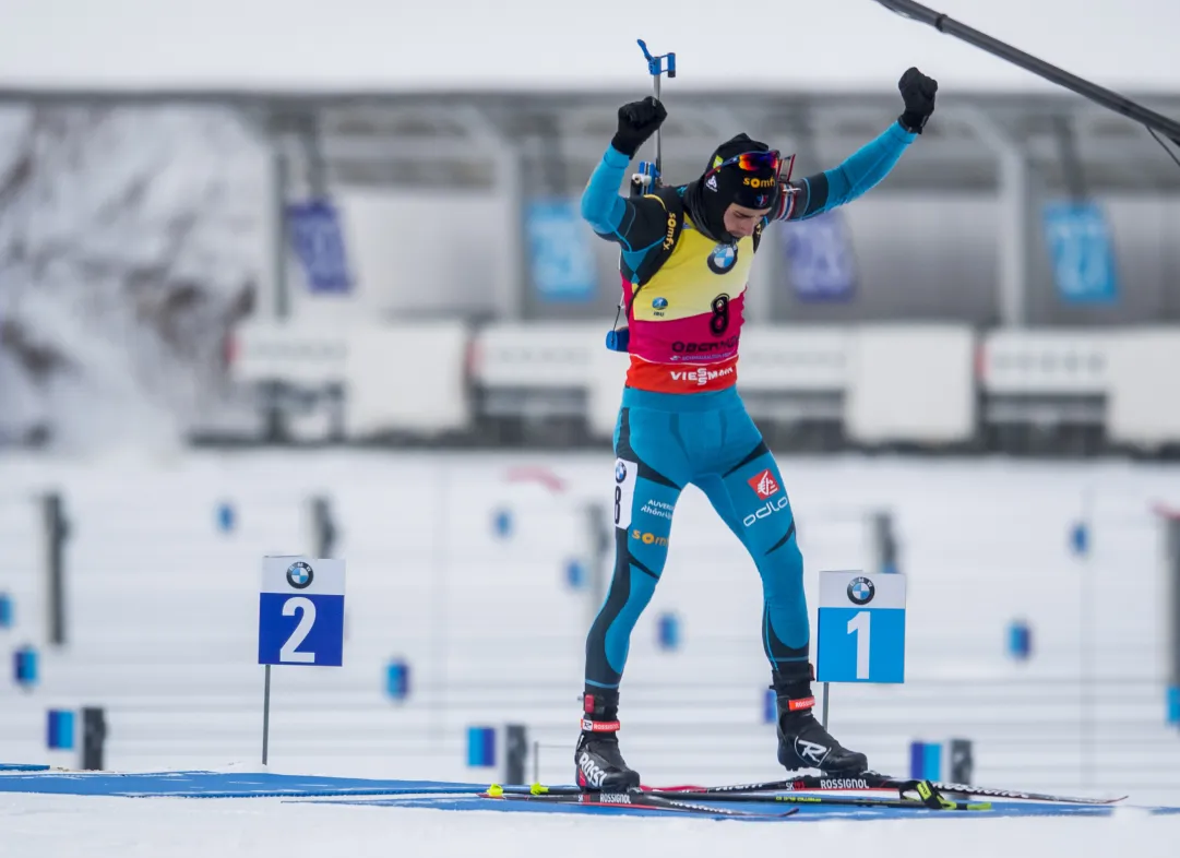
[[[857,289],[852,235],[839,211],[784,224],[791,282],[800,301],[847,301]]]

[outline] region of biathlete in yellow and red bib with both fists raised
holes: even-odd
[[[910,68],[904,112],[839,166],[791,181],[784,156],[740,133],[694,182],[624,197],[638,148],[667,117],[649,96],[618,110],[618,130],[582,195],[582,216],[622,248],[630,367],[615,428],[615,571],[586,637],[584,790],[640,785],[618,748],[618,688],[631,630],[668,555],[681,491],[691,484],[746,546],[762,578],[761,637],[778,700],[778,759],[788,769],[867,769],[815,720],[804,559],[782,476],[735,387],[742,302],[762,230],[858,198],[889,175],[935,110],[938,84]],[[787,158],[788,163],[793,159]]]

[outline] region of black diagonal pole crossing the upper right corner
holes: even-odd
[[[975,45],[995,57],[1005,59],[1009,63],[1018,65],[1021,68],[1038,74],[1045,80],[1058,86],[1064,86],[1067,90],[1073,90],[1079,96],[1096,101],[1103,107],[1113,110],[1115,113],[1121,113],[1128,119],[1134,119],[1149,129],[1167,135],[1173,143],[1180,146],[1180,122],[1175,119],[1169,119],[1161,113],[1148,110],[1141,104],[1132,101],[1129,98],[1123,98],[1117,92],[1112,92],[1097,84],[1092,84],[1084,78],[1070,74],[1055,65],[1037,59],[1032,54],[1024,53],[1011,45],[994,39],[986,33],[972,30],[965,24],[956,21],[953,18],[944,15],[940,12],[935,12],[922,4],[913,2],[913,0],[877,0],[877,2],[892,12],[897,12],[899,15],[912,18],[922,24],[929,24],[939,33],[953,35],[969,45]]]

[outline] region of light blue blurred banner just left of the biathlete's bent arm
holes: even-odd
[[[592,232],[578,202],[535,199],[525,211],[532,284],[542,301],[592,301],[598,287]]]

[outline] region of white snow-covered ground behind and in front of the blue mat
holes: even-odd
[[[509,479],[542,465],[551,495]],[[1180,505],[1159,464],[909,461],[784,457],[814,616],[815,574],[870,563],[866,516],[890,509],[910,579],[906,683],[840,686],[833,728],[880,768],[905,772],[912,739],[975,741],[977,782],[1130,792],[1180,804],[1180,736],[1163,726],[1165,634],[1156,500]],[[581,648],[594,601],[566,583],[589,556],[584,502],[610,486],[603,456],[282,452],[0,459],[0,590],[14,595],[6,650],[41,642],[37,492],[72,523],[70,643],[44,648],[42,685],[0,685],[0,760],[72,766],[45,749],[45,710],[103,705],[107,767],[258,766],[258,561],[304,551],[306,500],[332,498],[348,562],[345,667],[278,668],[274,771],[497,780],[466,766],[468,725],[527,725],[540,778],[568,782]],[[231,505],[235,528],[217,526]],[[509,511],[509,537],[497,513]],[[1069,530],[1093,524],[1087,559]],[[629,758],[649,782],[775,777],[761,721],[756,575],[695,490],[673,526],[664,579],[624,679]],[[683,646],[662,650],[676,613]],[[1007,623],[1034,627],[1035,657],[1005,654]],[[814,634],[814,628],[813,628]],[[409,701],[384,690],[391,657]],[[531,772],[530,772],[531,774]],[[970,826],[970,827],[969,827]],[[753,824],[453,812],[280,799],[118,799],[0,793],[0,856],[874,854],[1154,857],[1180,817],[904,819]]]

